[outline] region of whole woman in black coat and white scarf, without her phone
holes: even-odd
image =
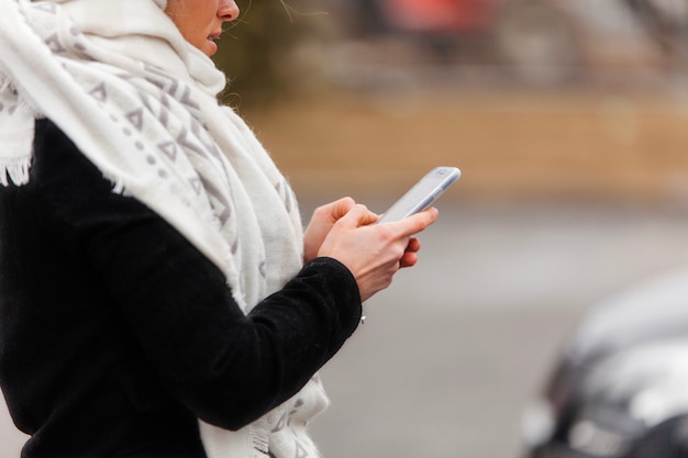
[[[217,94],[232,0],[0,0],[0,383],[22,457],[315,457],[317,377],[436,219],[296,199]]]

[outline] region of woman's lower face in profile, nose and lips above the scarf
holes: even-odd
[[[218,52],[222,24],[238,18],[234,0],[168,0],[165,12],[186,41],[207,56]]]

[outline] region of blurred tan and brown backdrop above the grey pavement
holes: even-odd
[[[240,1],[241,3],[241,1]],[[680,203],[685,0],[247,2],[224,93],[301,193]],[[385,185],[385,186],[380,186]],[[329,197],[329,196],[328,196]]]

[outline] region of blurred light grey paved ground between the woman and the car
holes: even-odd
[[[329,458],[515,458],[520,415],[584,310],[688,261],[685,212],[442,205],[422,265],[323,370]]]

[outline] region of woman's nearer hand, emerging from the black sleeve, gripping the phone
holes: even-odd
[[[412,236],[436,219],[437,210],[433,208],[401,221],[374,224],[377,214],[364,205],[354,205],[333,223],[318,256],[344,264],[356,278],[365,301],[389,287],[399,268],[415,265],[420,243]]]

